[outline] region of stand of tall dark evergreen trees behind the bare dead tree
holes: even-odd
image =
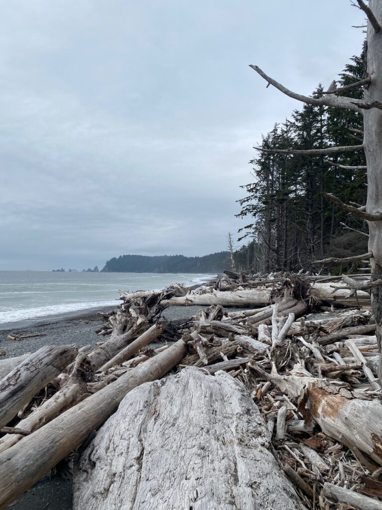
[[[358,82],[365,72],[363,51],[350,59],[337,85],[333,82],[329,90]],[[323,97],[323,91],[319,84],[312,97]],[[357,87],[336,95],[360,100],[363,93],[363,88]],[[343,202],[365,205],[364,152],[277,152],[359,145],[362,138],[362,113],[323,105],[305,104],[293,111],[290,119],[275,124],[250,162],[251,183],[241,186],[243,197],[238,200],[241,211],[237,216],[248,224],[240,228],[239,239],[252,240],[236,253],[241,267],[247,268],[251,261],[256,271],[299,270],[323,256],[350,257],[367,251],[367,221],[348,215],[325,197],[325,193],[333,193]]]

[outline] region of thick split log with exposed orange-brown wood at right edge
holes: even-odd
[[[309,416],[322,432],[348,448],[367,453],[382,465],[382,405],[379,400],[352,398],[345,388],[323,379],[307,386],[306,420]],[[306,407],[306,405],[305,405]]]

